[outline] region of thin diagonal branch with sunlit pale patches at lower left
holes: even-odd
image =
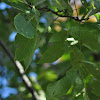
[[[11,53],[11,51],[8,49],[6,44],[1,39],[0,39],[0,46],[6,52],[6,54],[9,56],[9,58],[11,59],[13,64],[15,65],[15,67],[18,70],[18,73],[21,76],[26,88],[32,94],[33,100],[38,100],[38,95],[37,95],[36,91],[33,89],[32,84],[31,84],[30,80],[28,79],[28,77],[24,74],[24,69],[23,69],[23,66],[21,65],[21,63],[19,61],[14,61],[13,54]]]

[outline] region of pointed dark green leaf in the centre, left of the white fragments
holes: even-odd
[[[39,63],[52,63],[62,56],[64,53],[64,43],[58,42],[51,45],[43,54]]]

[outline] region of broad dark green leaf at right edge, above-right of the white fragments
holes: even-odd
[[[69,33],[89,49],[100,50],[99,31],[97,24],[71,23]]]

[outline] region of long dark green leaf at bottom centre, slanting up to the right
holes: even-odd
[[[49,84],[46,91],[47,100],[52,100],[53,97],[66,95],[71,85],[74,83],[76,75],[76,71],[71,69],[61,80]]]

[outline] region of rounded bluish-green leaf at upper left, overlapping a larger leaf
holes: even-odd
[[[17,32],[27,38],[33,38],[34,34],[36,33],[36,29],[33,27],[31,19],[27,20],[24,14],[19,13],[16,15],[14,18],[14,25]]]

